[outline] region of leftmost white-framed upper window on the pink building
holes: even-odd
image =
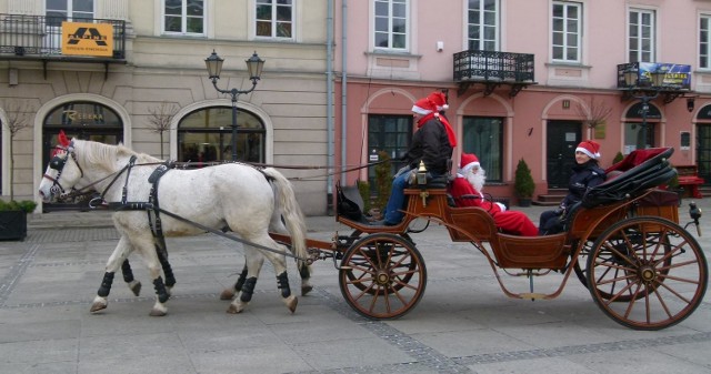
[[[408,49],[408,1],[374,0],[374,41],[378,49]]]

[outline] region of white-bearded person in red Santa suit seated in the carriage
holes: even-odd
[[[523,212],[509,211],[502,203],[493,203],[484,199],[487,173],[472,153],[462,153],[457,178],[452,181],[450,194],[457,206],[479,206],[493,218],[497,228],[504,233],[522,236],[538,235],[538,228]]]

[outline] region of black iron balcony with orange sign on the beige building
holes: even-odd
[[[93,23],[97,29],[79,28],[78,31],[62,31],[62,17],[0,14],[0,60],[41,60],[44,65],[51,61],[126,63],[126,21],[96,18],[73,19],[71,22]],[[110,24],[112,43],[104,41],[109,36],[101,36],[97,30]],[[101,27],[99,27],[101,26]],[[108,48],[108,53],[90,55],[90,53],[68,53],[62,49],[62,40],[69,43],[91,41],[99,47]]]

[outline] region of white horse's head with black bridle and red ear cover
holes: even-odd
[[[64,133],[59,134],[59,145],[52,150],[49,165],[44,171],[39,193],[44,202],[53,202],[71,192],[83,178],[83,171],[77,162],[74,141]]]

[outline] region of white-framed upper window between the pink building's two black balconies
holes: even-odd
[[[555,22],[555,17],[553,17],[553,8],[554,7],[563,7],[563,17],[560,19],[563,29],[554,30],[553,24]],[[569,18],[568,11],[571,8],[575,8],[578,10],[577,18]],[[582,22],[583,22],[583,4],[580,2],[573,1],[553,1],[551,3],[551,61],[554,62],[567,62],[567,63],[581,63],[582,62]],[[578,31],[570,31],[569,26],[570,22],[575,22]],[[555,34],[562,33],[562,43],[555,44]],[[573,46],[574,43],[574,46]],[[562,48],[562,57],[555,57],[555,48]],[[571,49],[575,49],[575,57],[572,59],[568,58],[569,51]]]

